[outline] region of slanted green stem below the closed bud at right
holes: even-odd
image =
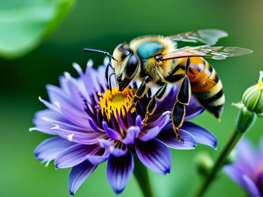
[[[225,161],[232,151],[232,149],[235,147],[236,143],[239,141],[239,139],[242,137],[243,133],[237,132],[236,129],[234,129],[231,137],[229,138],[226,146],[224,147],[223,151],[220,153],[218,159],[216,160],[213,168],[211,169],[208,176],[205,178],[202,186],[200,187],[200,190],[197,193],[197,197],[201,197],[204,195],[205,191],[208,189],[211,182],[213,182],[213,179],[215,178],[216,173],[218,170],[222,168],[222,166],[225,164]]]

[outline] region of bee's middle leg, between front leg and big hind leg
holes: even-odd
[[[149,116],[151,116],[153,114],[153,112],[155,111],[157,104],[156,104],[156,100],[157,101],[161,101],[164,99],[165,94],[166,94],[166,87],[167,84],[165,83],[156,93],[155,95],[151,98],[149,104],[147,105],[146,108],[146,115],[143,119],[143,122],[141,123],[141,126],[145,127],[146,126],[146,122],[149,118]]]

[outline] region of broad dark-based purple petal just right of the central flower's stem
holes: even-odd
[[[147,142],[136,141],[135,151],[141,162],[158,174],[170,173],[172,155],[169,148],[158,139]]]

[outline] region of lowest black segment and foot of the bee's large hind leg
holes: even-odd
[[[181,142],[183,141],[184,143],[184,139],[180,138],[180,135],[179,135],[179,127],[183,125],[184,116],[185,116],[184,104],[176,101],[176,103],[174,104],[171,116],[172,116],[171,118],[172,118],[174,132],[176,134],[176,138],[181,140]]]

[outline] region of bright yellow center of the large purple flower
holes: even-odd
[[[136,90],[137,89],[126,87],[122,92],[120,92],[117,87],[113,87],[112,92],[110,92],[110,90],[106,90],[103,95],[98,93],[100,96],[98,105],[100,106],[102,113],[105,110],[108,120],[110,120],[110,113],[112,113],[112,111],[115,118],[117,118],[116,109],[118,110],[119,114],[122,109],[122,115],[125,117],[123,106],[127,111],[129,110]],[[133,109],[131,113],[133,113],[134,110],[135,109]]]

